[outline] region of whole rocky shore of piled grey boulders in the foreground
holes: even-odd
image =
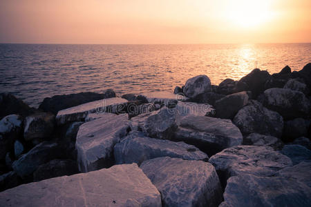
[[[30,108],[0,94],[0,206],[311,206],[311,63]]]

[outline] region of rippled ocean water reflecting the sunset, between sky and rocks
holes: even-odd
[[[311,62],[311,43],[219,45],[0,44],[0,92],[30,106],[45,97],[113,88],[125,93],[173,90],[190,77],[212,84],[254,68],[271,74]]]

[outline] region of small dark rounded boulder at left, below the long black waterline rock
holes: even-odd
[[[30,115],[25,119],[23,138],[26,141],[32,139],[46,139],[53,135],[55,116],[51,113],[40,112]]]

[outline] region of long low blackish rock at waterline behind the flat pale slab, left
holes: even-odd
[[[70,95],[56,95],[51,98],[45,98],[40,104],[39,109],[44,110],[45,112],[52,112],[54,115],[57,115],[59,110],[63,110],[65,108],[71,108],[73,106],[79,106],[83,103],[113,97],[115,97],[115,92],[112,89],[104,90],[102,94],[95,92],[79,92]]]

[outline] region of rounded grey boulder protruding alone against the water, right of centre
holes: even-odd
[[[198,75],[188,79],[183,89],[184,94],[190,98],[209,91],[211,91],[211,81],[206,75]]]

